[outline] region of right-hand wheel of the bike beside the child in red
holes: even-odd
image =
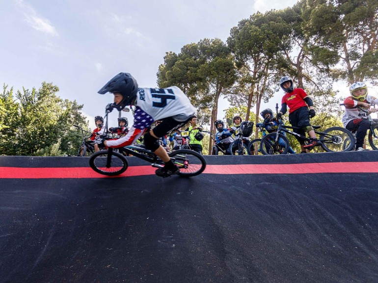
[[[349,144],[344,144],[345,140],[351,141]],[[341,127],[331,127],[324,130],[321,134],[322,148],[326,152],[349,152],[353,149],[355,140],[353,134]]]

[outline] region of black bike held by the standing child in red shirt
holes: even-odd
[[[294,131],[288,130],[288,129],[299,129],[299,128],[286,126],[284,125],[281,119],[278,119],[277,123],[278,123],[277,132],[270,133],[266,135],[264,138],[262,138],[261,140],[260,150],[263,154],[265,155],[287,154],[290,147],[290,143],[287,137],[283,134],[283,132],[295,135],[299,138],[302,138],[303,140],[307,142],[310,142],[310,139],[307,138],[306,136],[303,136]],[[317,131],[316,129],[320,129],[321,126],[312,126],[312,128],[315,130],[316,134],[320,135],[319,140],[322,142],[321,147],[326,152],[351,151],[351,149],[354,146],[353,135],[347,129],[344,129],[341,127],[331,127],[331,128],[325,129],[324,131]],[[344,148],[344,141],[347,138],[350,138],[352,142],[346,148]],[[281,142],[281,145],[280,145],[279,139],[282,139],[284,143]]]

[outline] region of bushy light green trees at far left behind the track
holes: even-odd
[[[6,91],[4,86],[1,99],[7,115],[6,128],[0,130],[0,154],[46,154],[47,149],[54,154],[76,154],[81,135],[72,125],[88,125],[80,112],[82,105],[60,99],[58,90],[52,83],[43,82],[38,91],[17,91],[15,100],[13,90]],[[59,148],[55,149],[57,144]]]

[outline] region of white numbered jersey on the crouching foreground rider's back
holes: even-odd
[[[136,106],[149,114],[154,121],[173,117],[184,122],[195,114],[189,98],[177,86],[167,88],[138,88]]]

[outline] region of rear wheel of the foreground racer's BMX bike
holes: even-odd
[[[206,168],[205,158],[192,150],[178,150],[169,154],[179,168],[179,176],[192,177],[201,174]]]

